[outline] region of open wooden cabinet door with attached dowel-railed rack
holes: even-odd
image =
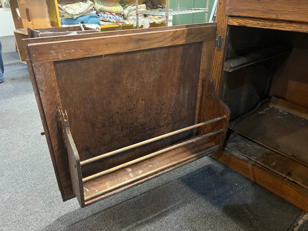
[[[81,207],[221,148],[216,23],[23,40],[63,200]]]

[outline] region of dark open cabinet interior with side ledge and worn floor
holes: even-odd
[[[225,147],[308,188],[308,34],[230,26]]]

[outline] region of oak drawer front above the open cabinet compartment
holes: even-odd
[[[228,0],[226,14],[248,18],[267,18],[308,22],[308,1]]]

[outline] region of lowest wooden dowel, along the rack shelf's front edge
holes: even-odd
[[[219,147],[219,145],[215,145],[215,146],[213,146],[212,148],[207,149],[206,152],[211,152],[211,151],[213,151],[214,149],[216,149],[216,148],[218,148],[218,147]],[[110,187],[110,188],[104,189],[104,190],[102,190],[102,191],[100,191],[100,192],[97,192],[97,193],[95,193],[95,194],[93,194],[93,195],[91,195],[91,196],[89,196],[89,197],[86,197],[86,198],[84,198],[84,200],[85,200],[85,201],[89,201],[89,200],[91,200],[91,199],[93,199],[93,198],[95,198],[95,197],[99,197],[100,195],[103,195],[103,194],[105,194],[105,193],[108,193],[108,192],[110,192],[110,191],[113,191],[113,190],[115,190],[115,189],[117,189],[117,188],[123,187],[123,186],[126,185],[126,184],[129,184],[129,183],[132,183],[132,182],[134,182],[134,181],[136,181],[136,180],[139,180],[139,179],[142,179],[142,178],[144,178],[144,177],[150,176],[150,175],[152,175],[152,174],[154,174],[154,173],[156,173],[156,172],[162,171],[162,170],[164,170],[164,169],[166,169],[166,168],[169,168],[169,167],[171,167],[171,166],[173,166],[173,165],[180,164],[181,162],[184,162],[184,161],[189,160],[189,159],[191,159],[191,158],[193,158],[193,157],[199,156],[199,155],[201,155],[201,154],[203,154],[203,153],[204,153],[204,152],[199,152],[199,153],[193,154],[193,155],[191,155],[191,156],[185,157],[185,158],[183,158],[183,159],[181,159],[181,160],[174,161],[174,162],[172,162],[172,163],[170,163],[170,164],[167,164],[167,165],[165,165],[165,166],[162,166],[162,167],[160,167],[160,168],[156,168],[156,169],[154,169],[154,170],[152,170],[152,171],[150,171],[150,172],[146,172],[146,173],[144,173],[144,174],[142,174],[142,175],[140,175],[140,176],[133,177],[133,178],[130,179],[130,180],[124,181],[124,182],[122,182],[122,183],[120,183],[120,184],[116,184],[116,185],[114,185],[114,186],[112,186],[112,187]]]

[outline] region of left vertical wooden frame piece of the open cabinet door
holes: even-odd
[[[39,97],[43,107],[43,117],[47,124],[45,132],[46,140],[51,153],[51,158],[55,156],[61,184],[66,198],[74,197],[71,191],[71,176],[68,171],[69,165],[67,155],[64,151],[62,134],[59,130],[57,113],[61,107],[59,90],[55,79],[55,69],[53,63],[32,64],[36,84],[39,90]],[[35,91],[34,91],[35,93]],[[52,105],[52,106],[51,106]],[[58,182],[59,183],[59,182]]]

